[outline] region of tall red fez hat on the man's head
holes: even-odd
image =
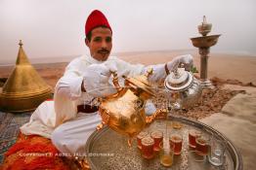
[[[92,31],[97,26],[107,26],[111,31],[111,27],[107,21],[107,17],[104,16],[99,10],[93,11],[90,16],[87,18],[85,23],[85,35]]]

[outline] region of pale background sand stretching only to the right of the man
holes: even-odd
[[[200,69],[200,56],[197,51],[155,51],[120,53],[120,57],[133,63],[156,64],[170,61],[174,56],[191,53],[194,65]],[[244,84],[256,85],[256,56],[210,53],[208,59],[208,78],[238,80]]]

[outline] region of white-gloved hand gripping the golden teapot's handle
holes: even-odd
[[[115,88],[108,83],[111,73],[105,64],[92,64],[86,68],[83,84],[86,92],[94,97],[104,97],[115,93]]]

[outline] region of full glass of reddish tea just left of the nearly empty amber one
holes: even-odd
[[[142,139],[142,156],[147,159],[153,157],[153,139],[149,136]]]

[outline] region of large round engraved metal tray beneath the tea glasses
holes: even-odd
[[[237,153],[232,142],[227,139],[222,133],[213,129],[212,127],[191,119],[178,118],[169,116],[167,120],[157,119],[152,122],[147,130],[162,128],[164,134],[166,129],[171,130],[173,121],[182,123],[180,129],[183,135],[183,149],[181,155],[174,156],[174,163],[171,167],[167,168],[160,164],[159,156],[155,154],[153,159],[147,160],[141,156],[140,151],[137,149],[137,142],[134,139],[133,145],[130,148],[127,144],[127,137],[119,135],[112,131],[107,126],[100,131],[95,131],[86,143],[86,153],[88,163],[93,170],[135,170],[135,169],[210,169],[210,170],[242,170],[242,159]],[[211,165],[207,159],[205,161],[194,161],[193,154],[188,145],[189,143],[189,129],[199,128],[203,133],[212,133],[218,135],[223,140],[227,140],[227,151],[225,153],[225,163],[222,166],[216,167]],[[171,132],[171,131],[170,131]]]

